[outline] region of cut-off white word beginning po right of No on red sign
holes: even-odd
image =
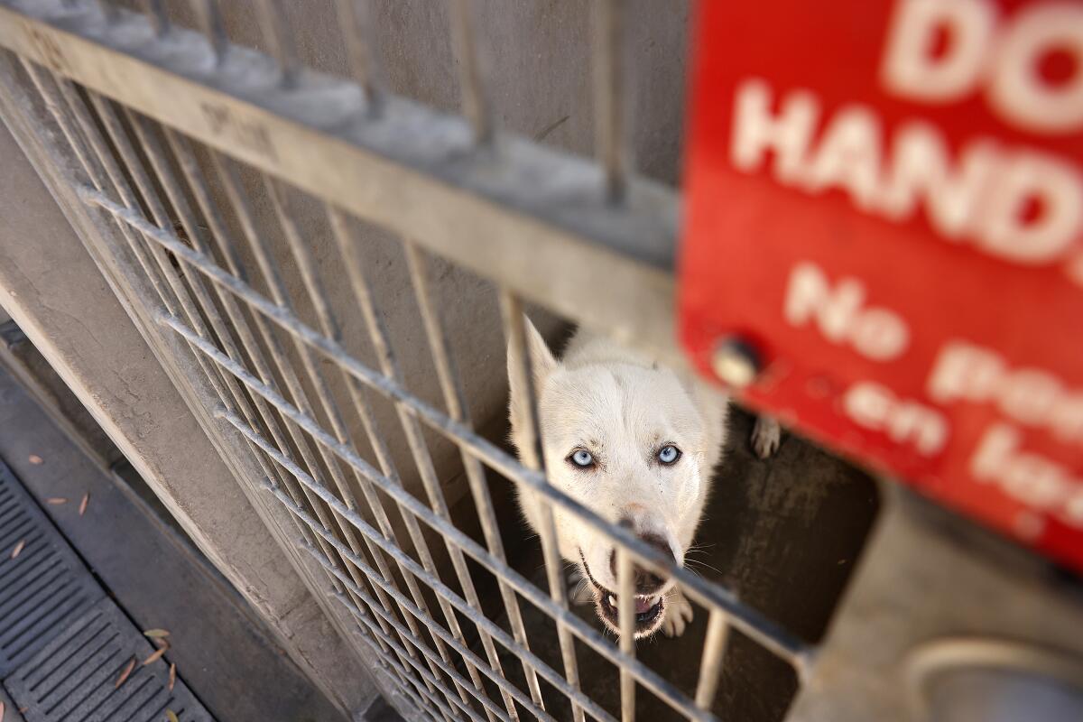
[[[1014,421],[1048,429],[1064,443],[1083,442],[1083,390],[1068,389],[1053,373],[1012,368],[995,351],[950,341],[934,362],[927,391],[941,404],[990,403]]]

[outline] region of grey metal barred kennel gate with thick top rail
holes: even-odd
[[[350,79],[300,67],[275,2],[257,3],[274,58],[233,44],[212,1],[194,0],[201,32],[173,26],[164,3],[147,4],[141,14],[107,2],[0,1],[4,116],[38,129],[53,171],[104,229],[100,244],[83,240],[118,294],[174,368],[209,384],[208,433],[235,430],[244,439],[259,473],[238,473],[238,483],[287,512],[291,526],[278,529],[280,538],[315,561],[318,574],[299,567],[306,582],[347,611],[340,632],[382,671],[402,711],[548,720],[566,710],[576,720],[612,720],[580,684],[576,646],[585,645],[619,671],[622,719],[635,718],[637,693],[689,719],[715,719],[731,627],[804,678],[810,649],[801,641],[548,485],[535,413],[520,420],[533,439],[522,463],[474,430],[432,289],[433,255],[496,284],[505,336],[524,359],[512,372],[526,388],[523,298],[676,355],[668,272],[676,198],[636,176],[624,152],[622,3],[597,6],[599,163],[496,131],[468,0],[451,4],[461,118],[383,90],[364,2],[338,3]],[[314,257],[298,204],[321,209],[334,261]],[[257,205],[271,209],[275,240]],[[412,212],[420,206],[427,212]],[[394,233],[405,253],[440,404],[413,393],[401,371],[376,271],[356,238],[362,221]],[[343,338],[328,263],[349,280],[348,312],[364,320],[370,364]],[[377,402],[394,409],[419,495],[404,485],[377,428]],[[433,434],[460,457],[481,540],[453,518]],[[548,589],[509,565],[488,472],[544,499]],[[690,661],[700,666],[693,694],[637,661],[630,633],[615,643],[570,612],[553,506],[612,539],[619,569],[635,560],[670,575],[707,611],[702,657]],[[496,581],[498,617],[486,612],[480,577]],[[630,631],[631,578],[622,577],[621,626]],[[531,652],[524,604],[551,620],[560,664]],[[547,704],[543,688],[563,705]]]

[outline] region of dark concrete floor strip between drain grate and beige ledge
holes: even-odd
[[[65,393],[63,385],[53,389]],[[100,469],[3,367],[0,459],[136,626],[170,630],[170,660],[216,719],[343,719],[172,520],[144,501],[148,495]],[[86,493],[89,502],[80,516]],[[44,503],[54,497],[69,503]]]

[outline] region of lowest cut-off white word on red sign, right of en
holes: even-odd
[[[974,478],[996,484],[1013,499],[1083,528],[1083,480],[1019,446],[1017,429],[1005,423],[990,426],[970,459]]]

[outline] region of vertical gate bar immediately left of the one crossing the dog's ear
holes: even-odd
[[[436,311],[432,293],[429,286],[429,274],[426,262],[417,245],[408,239],[403,240],[403,248],[406,251],[406,264],[409,267],[410,279],[414,285],[414,296],[417,299],[418,309],[421,312],[421,320],[425,326],[426,336],[429,339],[429,349],[436,366],[436,377],[440,380],[440,388],[443,391],[444,404],[447,406],[448,416],[455,421],[472,429],[469,413],[467,412],[466,398],[462,386],[458,382],[458,373],[452,363],[452,355],[447,347],[447,339],[444,336],[443,324],[440,313]],[[349,242],[349,239],[340,240],[340,250],[347,259],[347,270],[355,285],[364,283],[364,270],[361,266],[357,245]],[[481,521],[482,533],[485,535],[485,543],[488,551],[500,562],[506,562],[504,553],[504,542],[500,540],[500,529],[496,521],[496,513],[493,509],[493,500],[485,483],[485,471],[481,462],[471,454],[459,447],[462,465],[466,470],[467,480],[470,484],[470,491],[473,496],[474,507],[478,510],[478,517]],[[526,635],[526,628],[523,625],[523,617],[519,609],[519,601],[512,590],[504,579],[498,579],[500,595],[504,607],[511,623],[511,630],[516,641],[530,651],[530,641]],[[542,690],[538,686],[537,673],[523,660],[523,672],[526,674],[527,686],[534,703],[545,709],[542,700]],[[578,691],[576,688],[576,691]],[[574,703],[573,703],[574,706]]]

